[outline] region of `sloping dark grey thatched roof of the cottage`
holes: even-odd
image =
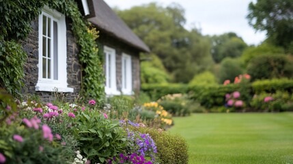
[[[131,31],[131,29],[113,12],[113,10],[103,0],[92,0],[92,10],[94,17],[88,18],[90,22],[96,25],[102,31],[118,38],[130,46],[134,46],[140,51],[150,52],[148,46]],[[90,7],[90,8],[91,8]],[[94,8],[93,8],[94,7]]]

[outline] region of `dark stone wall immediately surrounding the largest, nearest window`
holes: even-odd
[[[38,18],[31,23],[32,31],[27,40],[23,41],[23,49],[27,52],[27,64],[25,65],[25,87],[23,94],[36,94],[45,102],[55,100],[52,92],[37,92],[38,83]],[[64,93],[66,101],[74,100],[81,91],[81,66],[78,58],[78,45],[76,38],[71,31],[71,20],[66,18],[66,38],[67,38],[67,83],[68,87],[73,87],[73,93]],[[60,93],[61,94],[61,93]],[[60,96],[59,94],[59,96]]]

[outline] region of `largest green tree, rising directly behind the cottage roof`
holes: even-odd
[[[195,73],[213,64],[208,39],[196,29],[184,29],[184,9],[177,3],[166,8],[150,3],[116,11],[161,59],[174,81],[188,83]]]

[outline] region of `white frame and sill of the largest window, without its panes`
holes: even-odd
[[[42,77],[42,16],[47,16],[57,22],[57,74],[58,79],[55,80],[51,75],[51,79],[44,79]],[[53,21],[52,21],[53,22]],[[51,23],[53,27],[53,23]],[[53,37],[53,33],[51,32]],[[54,38],[52,38],[54,41]],[[56,39],[55,39],[56,40]],[[51,44],[51,52],[53,52],[53,45]],[[38,62],[38,83],[36,84],[36,91],[44,92],[73,92],[73,88],[68,87],[67,83],[67,44],[66,44],[66,20],[64,14],[57,12],[56,10],[51,10],[47,6],[42,10],[42,14],[39,16],[39,62]],[[53,53],[51,54],[53,57]],[[53,68],[53,61],[51,61],[51,68]],[[52,69],[53,70],[53,69]],[[53,72],[51,70],[51,72]],[[51,73],[53,74],[53,73]]]

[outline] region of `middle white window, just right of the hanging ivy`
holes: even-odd
[[[106,76],[105,92],[107,95],[120,94],[116,86],[116,54],[115,49],[104,46],[104,72]]]

